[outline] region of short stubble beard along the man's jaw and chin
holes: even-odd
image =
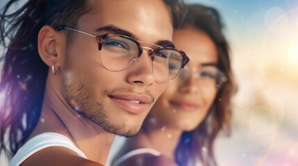
[[[66,70],[71,73],[71,70]],[[68,73],[68,74],[69,74]],[[104,102],[97,102],[95,100],[96,94],[92,88],[92,84],[83,77],[83,73],[78,73],[78,75],[73,75],[72,79],[67,80],[69,77],[63,77],[63,96],[74,111],[78,111],[88,120],[98,124],[104,131],[108,133],[113,133],[118,136],[124,136],[126,138],[134,137],[138,134],[140,130],[140,125],[136,124],[134,127],[127,127],[125,123],[122,122],[111,122],[108,117],[108,111],[106,109],[106,104]],[[117,91],[117,89],[110,89],[103,92],[102,96],[108,96],[108,92]],[[98,94],[97,94],[98,95]]]

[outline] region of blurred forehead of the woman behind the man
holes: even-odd
[[[217,48],[210,37],[198,29],[174,30],[173,42],[190,57],[189,65],[217,63]]]

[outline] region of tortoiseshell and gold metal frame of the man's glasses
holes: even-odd
[[[149,56],[151,57],[152,62],[154,61],[154,56],[151,56],[151,54],[152,53],[156,53],[157,51],[160,51],[160,50],[174,50],[174,51],[180,53],[182,59],[181,59],[181,68],[180,68],[179,72],[176,74],[175,77],[173,77],[172,79],[167,80],[165,82],[170,82],[170,81],[174,80],[174,78],[176,78],[179,75],[179,73],[181,72],[182,68],[184,68],[184,66],[186,64],[188,64],[188,62],[190,62],[190,58],[186,55],[186,53],[184,53],[183,50],[178,50],[178,49],[173,48],[173,47],[158,46],[156,44],[150,44],[150,43],[147,43],[147,42],[138,41],[138,40],[135,40],[135,39],[133,39],[131,37],[128,37],[126,35],[119,35],[119,34],[116,34],[116,33],[105,33],[104,35],[97,35],[96,36],[96,35],[91,35],[90,33],[85,33],[85,32],[83,32],[81,30],[76,30],[74,28],[68,28],[66,26],[58,26],[56,28],[56,30],[58,30],[58,31],[65,30],[65,29],[66,30],[73,30],[73,31],[75,31],[77,33],[83,33],[83,34],[88,35],[90,37],[94,37],[96,39],[96,41],[97,41],[98,46],[99,46],[99,51],[101,50],[102,46],[104,45],[105,39],[107,37],[123,37],[124,39],[129,39],[131,42],[134,42],[138,46],[138,55],[136,55],[135,56],[135,59],[133,59],[134,62],[136,61],[136,59],[138,59],[142,55],[143,48],[147,48],[147,49],[151,50],[151,52],[149,53]],[[146,46],[142,47],[141,44],[149,44],[149,45],[152,45],[152,46],[156,46],[157,48],[156,49],[152,49],[152,48],[149,48],[149,47],[146,47]],[[134,62],[131,63],[126,68],[129,68],[132,64],[134,64]],[[108,68],[106,66],[105,66],[105,68],[107,68],[109,71],[113,71],[113,70],[111,70],[110,68]],[[119,71],[124,71],[124,70],[126,70],[126,68],[124,68],[122,70],[119,70]],[[117,71],[113,71],[113,72],[117,72]]]

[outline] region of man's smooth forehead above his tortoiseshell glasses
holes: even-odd
[[[108,0],[92,1],[92,12],[78,19],[78,28],[92,32],[103,26],[117,26],[139,40],[172,41],[172,21],[162,0]]]

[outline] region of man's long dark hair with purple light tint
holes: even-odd
[[[28,0],[10,12],[19,1],[10,0],[1,10],[0,93],[5,95],[0,108],[0,153],[14,155],[35,128],[40,118],[49,67],[38,55],[38,33],[44,25],[76,28],[78,18],[92,10],[88,0]],[[183,13],[181,0],[164,0],[174,27]],[[67,33],[68,42],[71,33]]]

